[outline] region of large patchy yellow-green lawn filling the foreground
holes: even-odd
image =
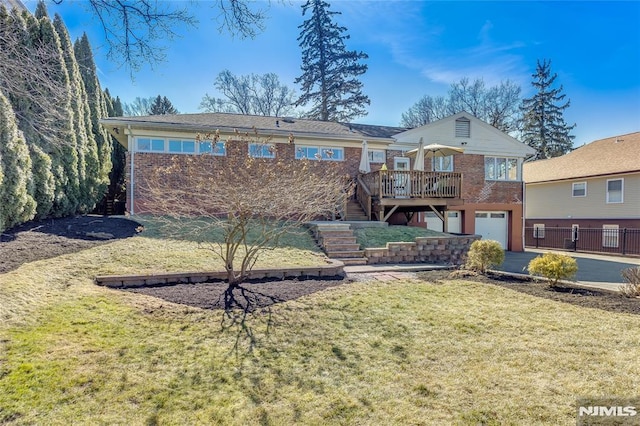
[[[171,268],[158,241],[0,275],[0,424],[559,425],[575,424],[578,397],[640,388],[639,316],[465,281],[358,282],[276,305],[269,333],[266,314],[250,318],[258,341],[237,355],[218,311],[93,285]],[[290,250],[264,262],[322,261]]]

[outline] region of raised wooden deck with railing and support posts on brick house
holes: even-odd
[[[386,221],[394,212],[407,216],[419,211],[444,215],[450,206],[463,204],[462,174],[379,170],[358,176],[356,199],[369,217]]]

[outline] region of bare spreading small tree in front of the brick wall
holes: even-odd
[[[246,136],[238,139],[247,142]],[[216,134],[205,140],[220,147]],[[277,151],[269,138],[251,136],[248,141]],[[336,162],[247,157],[238,163],[237,158],[208,154],[176,156],[170,166],[141,179],[139,210],[168,218],[170,234],[200,238],[219,233],[215,242],[201,244],[223,261],[231,291],[283,235],[330,217],[346,197],[347,183]],[[185,226],[182,219],[197,225]]]

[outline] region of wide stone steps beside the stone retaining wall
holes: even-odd
[[[313,232],[318,244],[332,259],[345,265],[366,265],[364,250],[356,243],[356,237],[348,223],[314,222]]]

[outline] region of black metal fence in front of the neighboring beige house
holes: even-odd
[[[640,255],[640,229],[527,227],[525,228],[525,246]]]

